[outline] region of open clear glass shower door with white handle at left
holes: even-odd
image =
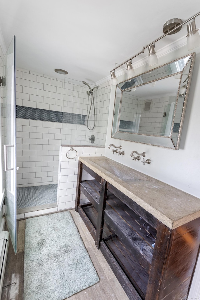
[[[5,219],[10,239],[17,253],[16,221],[16,64],[15,37],[2,61],[3,86],[2,135],[4,144]]]

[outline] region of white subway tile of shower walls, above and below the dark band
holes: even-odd
[[[88,88],[79,82],[64,82],[21,68],[16,77],[17,105],[87,115],[91,99]],[[86,125],[17,118],[17,187],[57,183],[60,144],[91,145],[89,138],[94,134],[93,145],[105,145],[110,89],[107,83],[94,92],[96,126],[92,133]]]

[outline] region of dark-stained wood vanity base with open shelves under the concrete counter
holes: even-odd
[[[82,170],[93,180],[81,181]],[[80,192],[89,200],[80,204]],[[131,300],[187,298],[200,218],[170,229],[79,161],[75,210]]]

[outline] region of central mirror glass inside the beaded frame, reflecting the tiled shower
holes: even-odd
[[[172,76],[124,91],[119,131],[170,136],[178,87]]]

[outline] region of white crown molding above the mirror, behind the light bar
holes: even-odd
[[[183,46],[187,45],[187,38],[184,35],[183,37],[179,38],[178,40],[176,40],[175,42],[172,42],[170,44],[167,44],[166,46],[160,48],[157,50],[157,57],[160,58],[162,56],[165,56],[173,51],[176,51],[180,48],[182,48]],[[148,63],[148,56],[139,59],[137,62],[133,63],[133,67],[134,69],[137,69],[139,67],[144,66],[145,64]],[[119,71],[115,71],[115,75],[116,77],[119,77],[121,75],[126,74],[126,67],[124,67],[123,69],[120,69]],[[137,72],[136,72],[137,73]],[[111,80],[110,75],[108,75],[107,77],[99,80],[98,82],[96,82],[97,85],[101,85],[107,81]]]

